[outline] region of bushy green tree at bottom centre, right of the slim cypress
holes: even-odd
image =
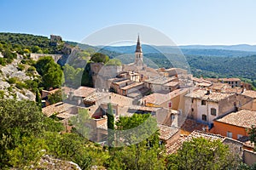
[[[125,141],[125,146],[111,150],[108,165],[106,165],[109,169],[164,169],[164,151],[159,145],[160,139],[159,133],[156,130],[156,121],[154,118],[151,118],[150,114],[134,114],[131,117],[119,117],[119,122],[116,123],[117,129],[119,131],[125,130],[125,133],[128,133],[128,135],[120,139],[124,139],[124,137],[128,139]],[[135,132],[127,132],[133,128],[136,128]],[[148,129],[153,131],[149,133]],[[141,137],[139,143],[127,144],[129,141],[138,141],[137,139],[132,140],[137,138],[132,133],[139,133],[139,136],[142,133],[148,134]]]

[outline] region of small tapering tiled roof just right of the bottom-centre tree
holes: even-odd
[[[176,134],[179,130],[177,127],[168,127],[160,124],[158,124],[157,127],[159,127],[160,129],[160,139],[163,140],[168,140],[172,138],[172,136]]]

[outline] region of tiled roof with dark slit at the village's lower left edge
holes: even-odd
[[[52,116],[55,113],[62,113],[64,111],[68,111],[71,109],[74,105],[70,105],[67,103],[59,102],[54,105],[49,105],[47,107],[44,107],[42,109],[42,112],[45,116]]]

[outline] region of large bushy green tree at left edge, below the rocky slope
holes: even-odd
[[[3,99],[0,102],[0,168],[9,165],[7,150],[21,143],[23,137],[38,137],[44,132],[43,113],[35,102]]]

